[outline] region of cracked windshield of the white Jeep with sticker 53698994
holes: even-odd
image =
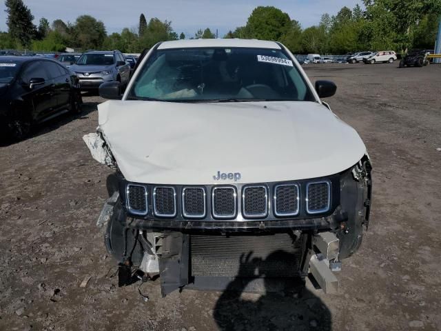
[[[315,101],[282,50],[157,50],[136,76],[128,99],[158,101]]]

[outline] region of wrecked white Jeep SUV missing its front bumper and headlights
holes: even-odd
[[[118,100],[84,140],[115,170],[98,224],[120,285],[134,270],[163,295],[310,273],[336,290],[368,225],[371,163],[320,101],[334,83],[314,88],[274,41],[198,39],[158,43],[119,90],[101,85]]]

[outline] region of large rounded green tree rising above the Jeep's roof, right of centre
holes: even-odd
[[[247,21],[250,37],[256,39],[280,40],[290,27],[289,15],[273,6],[254,8]]]

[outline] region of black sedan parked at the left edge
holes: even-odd
[[[0,132],[26,137],[34,123],[81,111],[76,75],[43,57],[0,58]]]

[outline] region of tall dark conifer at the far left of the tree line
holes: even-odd
[[[12,39],[18,39],[23,46],[29,46],[32,38],[37,32],[34,23],[34,15],[22,0],[6,0],[6,23]]]

